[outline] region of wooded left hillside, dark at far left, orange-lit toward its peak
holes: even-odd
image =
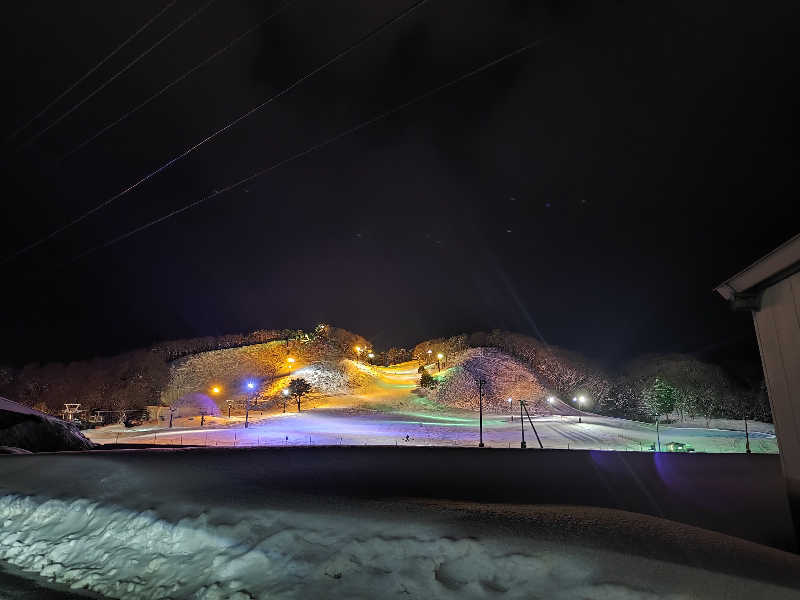
[[[269,341],[275,338],[282,341]],[[206,392],[210,377],[201,375],[201,368],[195,366],[208,368],[225,382],[234,381],[235,376],[272,376],[279,372],[279,354],[265,353],[261,348],[278,348],[281,344],[299,352],[309,364],[313,360],[353,357],[355,345],[369,346],[362,336],[329,325],[319,325],[310,333],[256,331],[175,340],[67,364],[29,364],[21,369],[0,366],[0,395],[48,414],[60,414],[66,402],[80,403],[81,410],[86,411],[143,408],[167,399],[175,401],[185,393]],[[189,367],[184,366],[187,364]]]

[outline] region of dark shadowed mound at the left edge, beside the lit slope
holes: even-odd
[[[94,447],[72,423],[0,399],[0,446],[31,452],[89,450]]]

